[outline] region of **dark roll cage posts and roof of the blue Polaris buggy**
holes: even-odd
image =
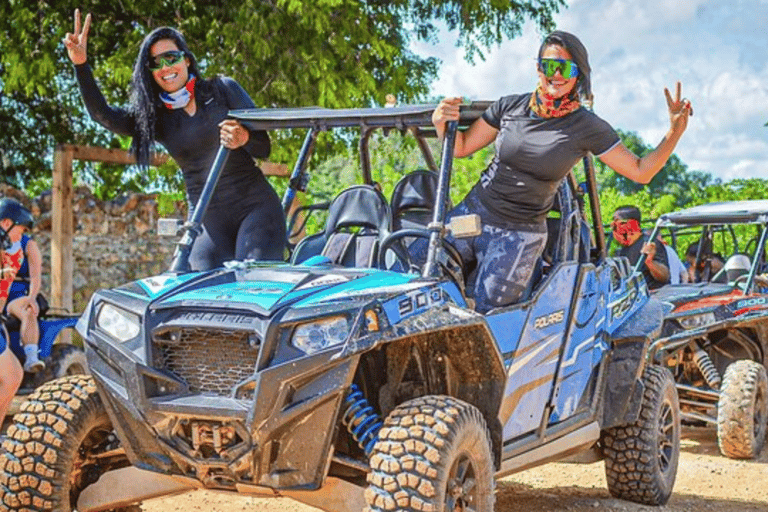
[[[282,205],[285,212],[290,208],[297,192],[305,192],[309,184],[308,163],[314,149],[315,141],[320,132],[334,128],[360,128],[360,166],[365,183],[372,183],[369,140],[371,134],[377,129],[398,129],[410,131],[422,152],[425,162],[430,170],[438,173],[437,204],[432,222],[428,226],[430,231],[429,250],[427,263],[424,265],[424,277],[434,276],[437,272],[437,251],[440,248],[440,239],[445,235],[445,205],[449,197],[451,181],[453,146],[456,130],[467,128],[491,104],[489,101],[475,101],[462,105],[458,122],[449,122],[446,126],[445,139],[442,145],[440,166],[427,144],[427,138],[435,138],[436,132],[432,126],[432,113],[437,105],[404,105],[383,108],[358,108],[358,109],[331,109],[321,107],[300,108],[256,108],[231,110],[228,118],[235,119],[251,130],[278,130],[278,129],[307,129],[307,134],[302,143],[296,163],[288,181],[288,187],[283,195]],[[220,146],[211,165],[200,199],[192,211],[189,220],[182,227],[182,237],[177,243],[176,252],[171,263],[171,272],[188,272],[189,254],[197,236],[202,232],[202,221],[210,203],[211,197],[219,176],[224,168],[229,150]],[[583,159],[586,175],[586,185],[589,196],[589,206],[592,213],[593,232],[595,234],[596,257],[603,260],[606,256],[605,234],[600,221],[600,202],[597,194],[597,182],[591,156]],[[578,190],[573,173],[568,178],[572,188]]]

